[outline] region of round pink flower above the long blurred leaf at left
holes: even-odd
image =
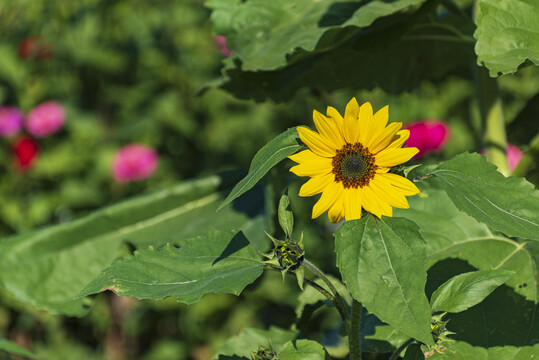
[[[112,163],[112,176],[119,183],[144,180],[157,169],[159,155],[151,147],[131,144],[116,152]]]

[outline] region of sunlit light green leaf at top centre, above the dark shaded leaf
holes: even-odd
[[[286,65],[299,49],[312,51],[321,36],[346,26],[367,27],[376,19],[425,0],[392,3],[362,0],[207,0],[216,31],[227,36],[245,71],[273,70]]]

